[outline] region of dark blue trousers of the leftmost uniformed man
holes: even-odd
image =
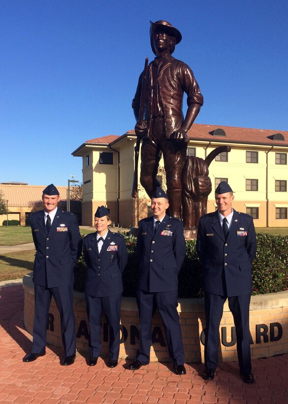
[[[73,311],[73,284],[56,288],[47,288],[34,284],[34,291],[35,314],[31,352],[40,353],[45,351],[48,313],[53,295],[60,314],[61,336],[65,356],[75,355],[76,334]]]

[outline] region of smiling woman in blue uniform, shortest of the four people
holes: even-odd
[[[108,230],[109,210],[99,206],[95,213],[96,232],[84,237],[84,257],[88,267],[85,298],[90,326],[89,366],[94,366],[100,355],[102,343],[101,316],[105,314],[110,329],[109,363],[118,363],[120,346],[120,304],[123,292],[122,273],[127,264],[127,247],[124,237]]]

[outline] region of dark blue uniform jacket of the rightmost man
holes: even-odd
[[[198,225],[196,248],[202,262],[204,292],[228,297],[251,293],[251,268],[257,244],[250,215],[233,209],[226,241],[218,211],[203,215]]]

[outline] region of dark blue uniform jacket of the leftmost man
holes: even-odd
[[[32,213],[30,223],[36,248],[33,282],[48,288],[71,285],[73,268],[82,250],[76,216],[57,209],[49,234],[44,210]]]

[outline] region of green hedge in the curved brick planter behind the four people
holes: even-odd
[[[136,237],[125,236],[128,249],[128,264],[123,273],[123,296],[135,296],[138,258]],[[280,292],[288,289],[288,236],[257,234],[257,255],[253,261],[253,295]],[[83,257],[74,270],[75,290],[84,291],[86,265]],[[179,273],[179,298],[202,297],[201,264],[196,253],[196,240],[186,241],[186,258]]]

